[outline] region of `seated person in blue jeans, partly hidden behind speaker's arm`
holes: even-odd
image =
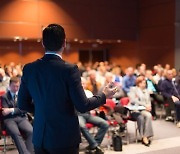
[[[86,80],[84,78],[81,78],[81,81],[82,81],[83,88],[86,89]],[[89,90],[85,90],[85,93],[87,97],[93,96],[92,92]],[[106,120],[98,116],[93,116],[89,112],[78,113],[78,118],[79,118],[79,125],[80,125],[81,132],[89,143],[89,146],[87,147],[87,152],[96,151],[96,154],[103,154],[104,152],[99,147],[99,145],[101,144],[109,127]],[[86,128],[86,123],[91,123],[99,127],[99,130],[97,134],[95,135],[95,137],[93,137],[89,133],[89,130]]]

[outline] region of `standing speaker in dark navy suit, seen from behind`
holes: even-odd
[[[33,143],[36,154],[79,153],[80,129],[75,108],[86,112],[101,106],[116,88],[87,98],[76,65],[62,59],[66,46],[63,27],[50,24],[43,30],[45,55],[23,68],[18,93],[19,108],[32,111]],[[32,104],[33,100],[33,104]]]

